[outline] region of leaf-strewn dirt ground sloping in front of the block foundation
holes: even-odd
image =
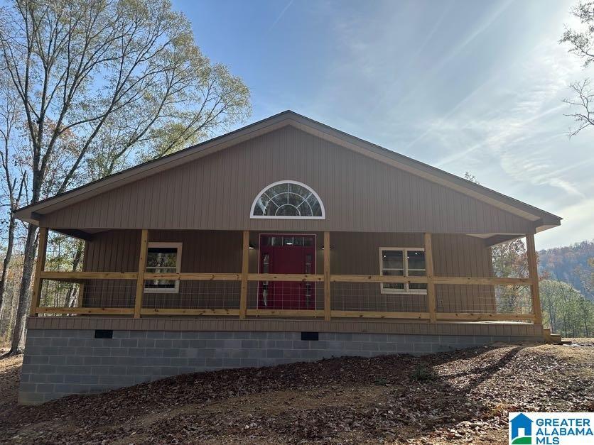
[[[509,411],[594,411],[594,339],[426,357],[334,358],[180,375],[16,405],[0,360],[0,442],[507,444]]]

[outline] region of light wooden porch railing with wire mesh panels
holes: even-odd
[[[41,298],[41,306],[36,307],[36,314],[118,314],[118,315],[134,315],[135,312],[135,300],[134,300],[134,293],[136,291],[136,280],[138,278],[137,273],[113,273],[113,272],[106,272],[106,273],[97,273],[97,272],[77,272],[77,273],[63,273],[63,272],[42,272],[41,273],[41,280],[43,282],[72,282],[77,283],[80,287],[82,287],[79,292],[77,292],[77,301],[73,307],[64,307],[65,298],[64,297],[56,297],[54,301],[48,301],[48,297],[43,295]],[[242,282],[242,274],[239,273],[151,273],[151,274],[144,274],[145,280],[180,280],[180,282],[191,282],[191,283],[201,283],[204,286],[204,292],[215,292],[212,291],[212,286],[217,284],[221,285],[225,282],[234,282],[235,287],[239,291],[239,285]],[[446,307],[436,307],[436,311],[434,312],[435,320],[440,321],[482,321],[482,320],[507,320],[507,321],[517,321],[517,320],[531,320],[534,321],[535,314],[534,311],[531,310],[531,304],[526,304],[526,298],[529,301],[529,292],[527,287],[529,287],[532,283],[532,280],[529,278],[492,278],[492,277],[485,277],[485,278],[470,278],[470,277],[433,277],[431,280],[427,277],[389,277],[384,275],[330,275],[330,283],[331,285],[342,285],[345,286],[342,288],[344,289],[352,289],[353,295],[358,295],[357,298],[351,299],[349,304],[347,304],[350,309],[340,309],[336,308],[337,303],[340,301],[338,295],[344,294],[345,292],[337,292],[335,291],[335,298],[333,298],[332,294],[330,295],[330,317],[331,318],[364,318],[364,319],[426,319],[431,320],[431,312],[427,307],[427,304],[420,304],[421,306],[415,310],[415,308],[404,308],[403,310],[390,310],[389,308],[376,308],[376,310],[364,310],[360,309],[361,307],[365,307],[365,292],[360,291],[355,287],[355,285],[377,285],[379,287],[380,283],[419,283],[429,285],[430,281],[433,282],[433,285],[457,285],[456,289],[453,292],[460,292],[460,288],[465,286],[488,286],[488,287],[514,287],[525,290],[526,292],[522,292],[524,297],[523,304],[520,304],[515,309],[516,312],[501,312],[501,309],[497,309],[497,299],[495,295],[490,293],[487,294],[488,300],[490,300],[490,304],[483,304],[484,302],[476,301],[475,304],[477,307],[473,307],[472,302],[465,302],[465,304],[461,304],[460,307],[455,307],[454,303],[446,304]],[[324,275],[274,275],[274,274],[259,274],[259,273],[250,273],[247,276],[247,282],[250,284],[254,284],[255,290],[257,290],[257,286],[259,283],[262,282],[307,282],[311,283],[312,285],[319,287],[324,282]],[[103,292],[111,292],[112,295],[124,295],[124,297],[120,298],[119,304],[117,307],[87,307],[87,304],[92,304],[92,299],[90,302],[85,303],[82,305],[82,295],[85,292],[91,292],[91,285],[103,285],[102,288]],[[99,283],[99,284],[95,284]],[[114,284],[115,283],[115,284]],[[111,287],[109,287],[111,286]],[[210,287],[209,287],[210,286]],[[107,287],[107,290],[106,290]],[[332,287],[331,287],[332,288]],[[55,291],[54,293],[59,291]],[[192,290],[189,291],[190,293],[193,292]],[[194,291],[195,292],[195,291]],[[217,290],[222,295],[220,290]],[[487,291],[493,292],[493,291]],[[50,292],[48,292],[50,293]],[[195,292],[196,293],[196,292]],[[246,309],[244,312],[244,317],[316,317],[316,318],[323,318],[325,317],[325,299],[321,299],[318,296],[318,304],[311,309],[264,309],[262,307],[258,307],[257,304],[254,304],[254,301],[257,300],[257,293],[254,295],[254,292],[250,292],[251,295],[251,303],[246,305]],[[439,293],[438,293],[439,295]],[[477,295],[477,292],[473,292],[473,295]],[[241,300],[241,293],[240,292],[227,292],[225,293],[227,297],[228,303],[224,306],[221,304],[221,307],[212,307],[212,302],[210,304],[202,304],[202,307],[188,307],[187,304],[178,304],[176,307],[171,307],[171,304],[168,307],[163,305],[158,307],[152,307],[151,304],[146,304],[147,300],[152,298],[151,294],[145,294],[143,297],[144,304],[141,304],[140,308],[140,315],[141,316],[151,316],[151,315],[179,315],[179,316],[202,316],[202,315],[215,315],[215,316],[234,316],[240,317],[241,309],[240,309],[240,300]],[[382,295],[387,300],[392,300],[398,302],[401,300],[401,297],[404,295]],[[522,295],[520,295],[522,297]],[[171,295],[160,295],[158,297],[163,301],[169,301],[166,299],[173,298]],[[414,300],[419,300],[421,298],[426,298],[428,295],[426,294],[418,294],[418,295],[406,295]],[[116,297],[114,297],[116,298]],[[219,301],[222,303],[221,298],[213,298],[213,301]],[[342,297],[344,300],[344,297]],[[455,299],[453,299],[455,300]],[[122,304],[122,302],[124,302]],[[215,303],[216,304],[216,303]],[[208,307],[205,307],[208,306]],[[359,308],[357,308],[357,306]],[[456,312],[446,312],[446,309],[451,309],[454,307]],[[492,307],[491,310],[490,307]],[[405,310],[406,309],[406,310]],[[514,309],[514,308],[512,308]],[[529,309],[529,312],[523,310],[522,312],[517,312],[521,309]]]

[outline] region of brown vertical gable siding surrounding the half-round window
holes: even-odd
[[[320,195],[325,220],[250,219],[279,180]],[[43,216],[55,229],[527,234],[526,219],[287,126]]]

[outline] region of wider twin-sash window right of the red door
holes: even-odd
[[[396,277],[423,277],[427,275],[425,268],[425,249],[380,247],[380,275]],[[426,294],[426,283],[416,282],[382,282],[382,294]]]

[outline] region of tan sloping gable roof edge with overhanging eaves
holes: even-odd
[[[283,111],[282,113],[244,126],[243,128],[226,133],[225,135],[193,145],[184,150],[172,153],[171,155],[166,155],[163,158],[136,165],[135,167],[104,177],[101,180],[90,182],[82,187],[77,187],[68,192],[63,192],[54,197],[44,199],[36,204],[22,207],[16,211],[16,217],[23,221],[39,224],[41,216],[44,214],[63,209],[71,204],[75,204],[84,199],[88,199],[97,194],[107,192],[131,182],[141,180],[158,172],[162,172],[163,170],[168,170],[192,160],[202,158],[206,155],[216,153],[229,146],[256,138],[257,136],[283,128],[284,126],[294,126],[302,131],[311,133],[314,136],[331,141],[337,145],[361,153],[362,155],[367,155],[370,158],[400,168],[401,170],[411,172],[426,180],[455,189],[458,192],[479,199],[482,202],[487,202],[494,207],[509,211],[510,213],[521,216],[529,221],[534,221],[536,231],[550,229],[551,227],[561,224],[560,216],[556,216],[524,202],[520,202],[517,199],[495,192],[492,189],[488,189],[482,185],[452,175],[451,173],[432,167],[431,165],[421,163],[418,160],[388,150],[387,148],[380,147],[374,143],[351,136],[336,128],[332,128],[318,121],[314,121],[313,119],[309,119],[306,116],[297,114],[294,111]]]

